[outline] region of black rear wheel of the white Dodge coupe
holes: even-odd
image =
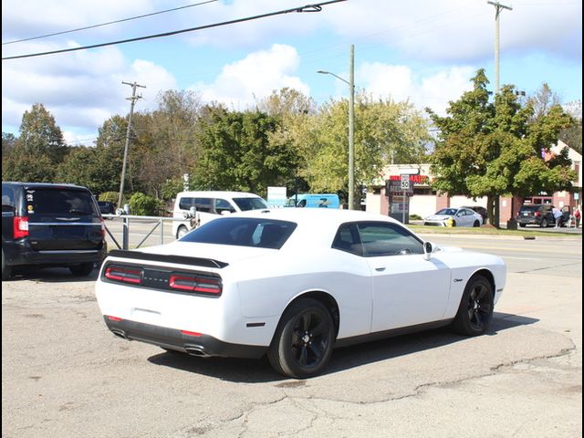
[[[302,298],[282,315],[267,351],[280,374],[304,379],[322,371],[332,354],[334,323],[328,309],[312,298]]]

